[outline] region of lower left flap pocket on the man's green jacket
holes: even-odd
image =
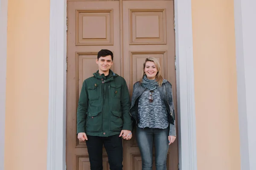
[[[101,112],[88,112],[86,119],[85,131],[100,132],[102,131],[102,114]]]

